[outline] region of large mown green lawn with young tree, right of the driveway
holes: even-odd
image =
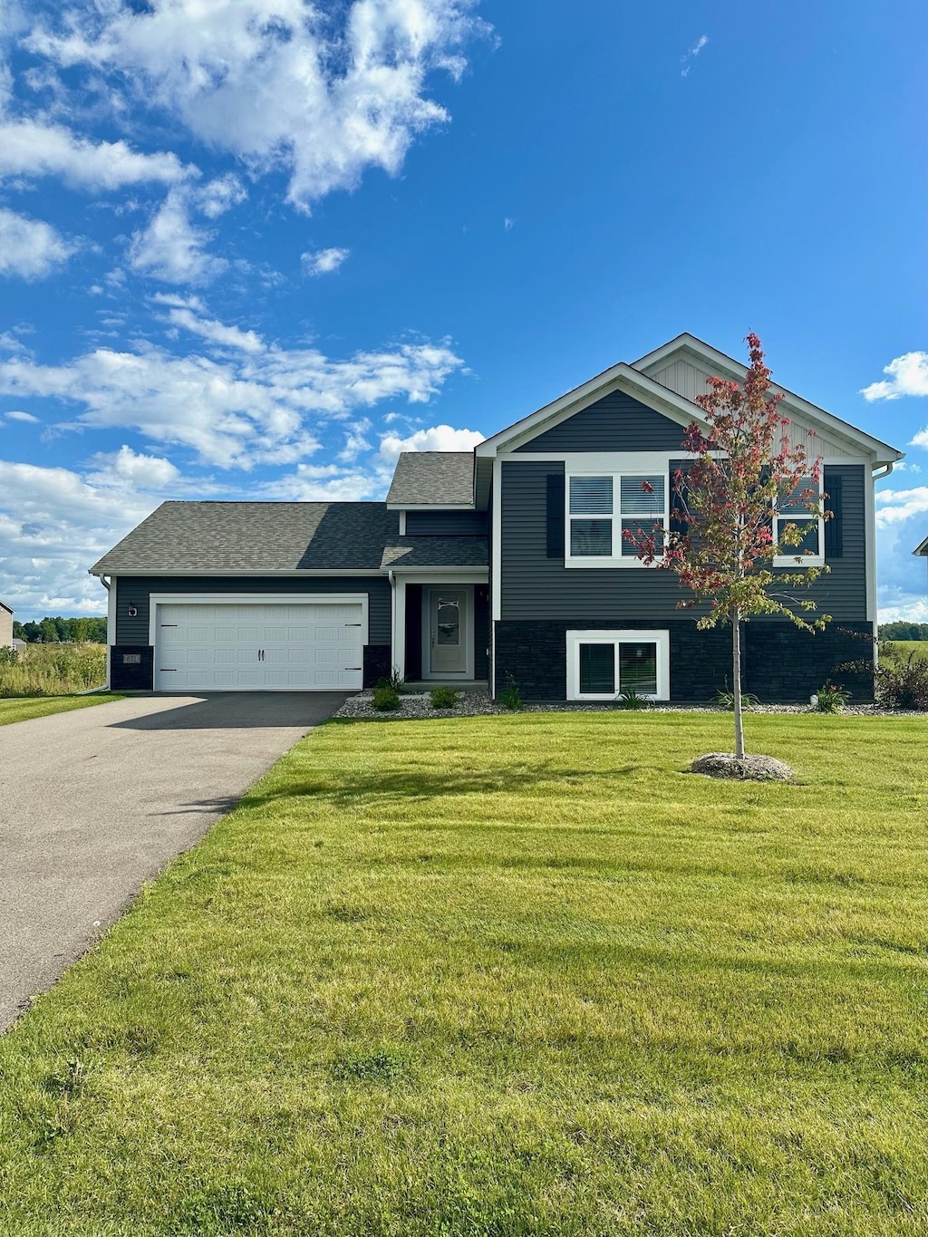
[[[332,724],[0,1042],[0,1231],[928,1231],[924,719]]]

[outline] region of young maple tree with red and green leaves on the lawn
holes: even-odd
[[[818,533],[818,520],[830,513],[822,503],[822,456],[813,458],[803,443],[791,444],[789,418],[777,411],[782,396],[770,390],[771,370],[763,364],[761,341],[751,334],[746,343],[751,366],[744,383],[710,377],[707,393],[695,398],[705,423],[693,422],[683,439],[683,452],[693,461],[673,477],[676,528],[624,533],[642,562],[677,573],[690,593],[677,602],[679,609],[708,602],[698,627],[731,625],[737,760],[745,753],[741,622],[752,615],[781,615],[813,631],[830,618],[803,617],[815,610],[815,602],[789,595],[797,585],[817,580],[827,567],[771,570],[778,557],[789,557],[801,568],[809,521],[815,521]],[[650,489],[648,482],[643,485]],[[775,524],[777,507],[796,512],[798,522],[781,517]]]

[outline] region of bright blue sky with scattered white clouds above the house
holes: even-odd
[[[0,9],[0,596],[165,497],[379,499],[682,330],[907,452],[928,618],[919,2]]]

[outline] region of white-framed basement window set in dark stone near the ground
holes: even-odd
[[[615,700],[622,691],[669,699],[669,631],[568,631],[567,699]]]

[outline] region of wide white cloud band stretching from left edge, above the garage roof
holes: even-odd
[[[132,428],[151,442],[191,448],[205,463],[247,469],[306,459],[318,449],[319,426],[381,400],[424,403],[462,364],[447,344],[402,344],[348,360],[276,345],[219,359],[153,345],[98,348],[61,365],[0,361],[0,393],[75,403],[75,428]],[[436,440],[455,433],[469,434],[421,432]],[[479,438],[470,434],[470,444]]]

